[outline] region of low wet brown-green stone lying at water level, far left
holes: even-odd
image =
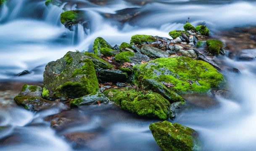
[[[34,96],[21,96],[17,95],[14,97],[14,101],[18,106],[24,107],[28,110],[40,111],[51,107],[57,107],[59,109],[65,109],[66,106],[61,102],[49,101],[41,97]]]

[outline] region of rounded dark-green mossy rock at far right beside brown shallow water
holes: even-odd
[[[220,40],[207,40],[206,45],[212,55],[219,55],[220,50],[224,50],[224,44]]]

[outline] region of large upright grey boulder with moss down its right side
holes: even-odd
[[[98,91],[92,60],[81,52],[67,52],[45,66],[43,97],[66,100]]]

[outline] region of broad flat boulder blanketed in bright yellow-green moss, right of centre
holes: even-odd
[[[189,57],[158,58],[133,67],[135,80],[140,76],[160,83],[172,83],[169,89],[184,93],[206,93],[219,88],[224,77],[209,63]]]

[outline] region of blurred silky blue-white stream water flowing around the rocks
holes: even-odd
[[[45,6],[44,0],[8,0],[0,12],[0,93],[1,151],[158,151],[161,150],[148,128],[157,120],[143,120],[117,107],[74,110],[84,121],[55,131],[45,117],[59,112],[49,109],[29,112],[13,104],[22,84],[42,84],[45,65],[68,51],[92,52],[92,44],[101,36],[111,45],[129,42],[135,34],[168,36],[182,30],[187,17],[196,26],[203,21],[214,36],[235,26],[255,26],[254,0],[62,0],[60,7]],[[88,22],[74,31],[59,21],[66,10],[85,10]],[[125,9],[129,8],[129,9]],[[256,49],[255,49],[256,51]],[[173,122],[189,126],[199,133],[203,151],[254,151],[256,148],[256,62],[219,58],[222,64],[238,68],[241,74],[222,71],[227,78],[231,99],[212,99],[213,107],[194,104],[180,112]],[[31,71],[16,76],[23,70]],[[10,86],[10,83],[20,83]],[[11,100],[11,102],[10,102]],[[190,97],[188,101],[201,101]],[[189,103],[188,103],[189,104]],[[117,114],[118,113],[118,114]],[[72,113],[73,114],[73,113]],[[63,135],[89,131],[94,137],[86,146],[68,143]]]

